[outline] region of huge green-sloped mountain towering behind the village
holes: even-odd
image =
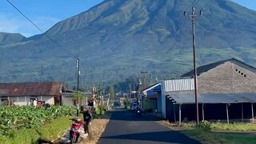
[[[125,78],[170,78],[193,68],[191,13],[195,6],[198,65],[238,58],[256,66],[256,12],[230,0],[105,0],[58,22],[46,34],[0,46],[0,81],[57,80],[74,85],[75,57],[82,84]],[[66,53],[68,51],[69,53]]]

